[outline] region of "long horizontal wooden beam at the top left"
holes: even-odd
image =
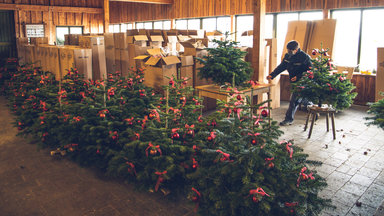
[[[42,11],[42,12],[60,12],[60,13],[95,13],[102,14],[102,8],[87,7],[64,7],[64,6],[44,6],[44,5],[25,5],[25,4],[3,4],[0,3],[0,10],[23,10],[23,11]]]

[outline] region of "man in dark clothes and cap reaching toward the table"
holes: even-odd
[[[312,67],[311,57],[308,54],[303,52],[297,41],[290,41],[287,44],[288,53],[285,54],[283,61],[280,63],[276,69],[267,76],[267,79],[270,81],[279,75],[281,72],[287,70],[289,73],[289,79],[292,82],[297,82],[303,76],[303,73]],[[291,100],[289,102],[289,108],[285,114],[284,121],[280,122],[280,125],[291,125],[297,110],[297,107],[301,103],[301,98],[297,97],[296,93],[291,95]]]

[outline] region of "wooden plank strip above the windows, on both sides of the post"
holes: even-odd
[[[111,23],[252,14],[253,0],[174,0],[173,5],[111,2]],[[382,0],[266,0],[266,12],[380,7]]]

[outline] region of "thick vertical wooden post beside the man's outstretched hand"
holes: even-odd
[[[264,82],[264,49],[265,49],[265,9],[266,0],[253,0],[253,80]]]

